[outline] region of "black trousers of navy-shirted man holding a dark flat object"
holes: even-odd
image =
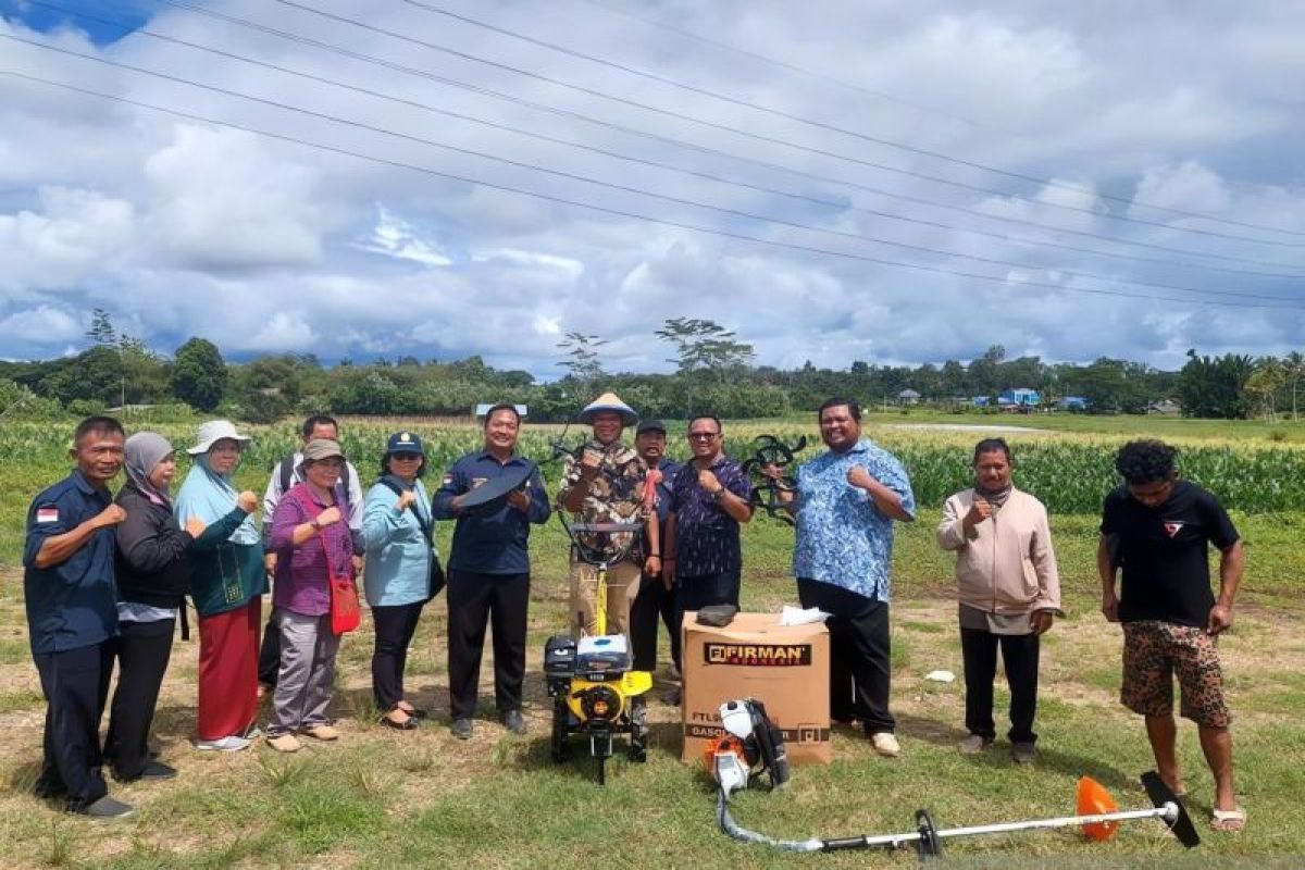
[[[521,708],[526,678],[526,609],[530,574],[449,570],[449,710],[470,719],[476,710],[485,626],[493,630],[493,687],[499,712]]]

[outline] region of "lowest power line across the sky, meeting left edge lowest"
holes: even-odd
[[[609,214],[609,215],[621,217],[621,218],[630,218],[633,220],[643,220],[646,223],[652,223],[652,224],[658,224],[658,226],[663,226],[663,227],[673,227],[673,228],[677,228],[677,230],[688,230],[688,231],[692,231],[692,232],[701,232],[701,233],[705,233],[705,235],[720,236],[720,237],[724,237],[724,239],[735,239],[735,240],[739,240],[739,241],[749,241],[749,243],[754,243],[754,244],[760,244],[760,245],[766,245],[766,247],[770,247],[770,248],[779,248],[779,249],[784,249],[784,250],[797,250],[797,252],[803,252],[803,253],[822,254],[822,256],[827,256],[827,257],[839,257],[839,258],[843,258],[843,260],[852,260],[852,261],[857,261],[857,262],[869,262],[869,263],[874,263],[874,265],[880,265],[880,266],[891,266],[891,267],[898,267],[898,269],[911,269],[911,270],[915,270],[915,271],[924,271],[924,273],[938,274],[938,275],[951,275],[951,277],[955,277],[955,278],[972,278],[975,280],[985,280],[985,282],[1000,283],[1000,284],[1005,284],[1005,286],[1036,287],[1036,288],[1052,290],[1052,291],[1057,291],[1057,292],[1086,293],[1086,295],[1091,295],[1091,296],[1112,296],[1112,297],[1121,297],[1121,299],[1147,299],[1147,300],[1154,300],[1154,301],[1168,301],[1168,303],[1180,303],[1180,304],[1184,304],[1184,305],[1197,305],[1198,308],[1201,305],[1218,305],[1218,307],[1224,307],[1224,308],[1241,308],[1241,309],[1245,309],[1245,308],[1265,308],[1265,309],[1305,310],[1305,305],[1302,305],[1302,304],[1267,305],[1267,304],[1262,304],[1262,303],[1221,301],[1221,300],[1218,300],[1218,299],[1214,299],[1214,300],[1193,300],[1193,299],[1184,299],[1184,297],[1176,297],[1176,296],[1156,296],[1156,295],[1152,295],[1152,293],[1135,293],[1135,292],[1126,292],[1126,291],[1117,291],[1117,290],[1100,290],[1100,288],[1088,288],[1088,287],[1067,287],[1067,286],[1062,286],[1062,284],[1052,284],[1049,282],[1037,282],[1037,280],[1011,280],[1009,277],[985,275],[983,273],[967,273],[967,271],[959,271],[959,270],[954,270],[954,269],[945,269],[942,266],[929,266],[929,265],[925,265],[925,263],[912,263],[912,262],[903,262],[903,261],[895,261],[895,260],[885,260],[885,258],[881,258],[881,257],[872,257],[872,256],[868,256],[868,254],[850,253],[850,252],[846,252],[846,250],[834,250],[834,249],[829,249],[829,248],[816,248],[816,247],[812,247],[812,245],[801,245],[801,244],[796,244],[796,243],[791,243],[791,241],[780,241],[780,240],[776,240],[776,239],[763,239],[763,237],[758,237],[758,236],[749,236],[749,235],[741,233],[741,232],[732,232],[729,230],[718,230],[718,228],[714,228],[714,227],[701,227],[701,226],[697,226],[697,224],[685,223],[685,222],[680,222],[680,220],[669,220],[669,219],[666,219],[666,218],[655,218],[655,217],[639,214],[639,213],[636,213],[636,211],[625,211],[625,210],[621,210],[621,209],[613,209],[613,207],[609,207],[609,206],[595,205],[595,203],[591,203],[591,202],[582,202],[582,201],[578,201],[578,200],[569,200],[566,197],[559,197],[559,196],[553,196],[553,194],[548,194],[548,193],[539,193],[536,190],[529,190],[526,188],[517,188],[517,187],[513,187],[513,185],[500,184],[500,183],[496,183],[496,181],[485,181],[483,179],[474,179],[474,177],[468,177],[468,176],[454,175],[452,172],[441,172],[440,170],[432,170],[429,167],[416,166],[416,164],[412,164],[412,163],[405,163],[402,160],[393,160],[393,159],[389,159],[389,158],[376,157],[376,155],[371,155],[371,154],[363,154],[360,151],[352,151],[352,150],[343,149],[343,147],[339,147],[339,146],[335,146],[335,145],[326,145],[324,142],[315,142],[315,141],[311,141],[311,140],[304,140],[304,138],[299,138],[299,137],[294,137],[294,136],[287,136],[284,133],[274,133],[271,130],[264,130],[264,129],[260,129],[260,128],[256,128],[256,127],[251,127],[251,125],[245,125],[245,124],[238,124],[238,123],[234,123],[234,121],[222,121],[222,120],[217,120],[217,119],[213,119],[213,117],[209,117],[209,116],[205,116],[205,115],[198,115],[196,112],[187,112],[187,111],[181,111],[181,110],[176,110],[176,108],[168,108],[168,107],[163,107],[163,106],[157,106],[157,104],[153,104],[153,103],[146,103],[144,100],[136,100],[136,99],[129,99],[127,97],[119,97],[116,94],[106,94],[103,91],[97,91],[97,90],[91,90],[91,89],[87,89],[87,87],[80,87],[77,85],[69,85],[69,83],[54,81],[54,80],[50,80],[50,78],[43,78],[40,76],[31,76],[31,74],[27,74],[27,73],[21,73],[21,72],[14,72],[14,70],[0,70],[0,76],[10,76],[10,77],[14,77],[14,78],[20,78],[20,80],[30,81],[30,82],[38,82],[38,83],[42,83],[42,85],[48,85],[48,86],[52,86],[52,87],[59,87],[59,89],[63,89],[63,90],[85,94],[85,95],[89,95],[89,97],[97,97],[97,98],[100,98],[100,99],[107,99],[107,100],[112,100],[112,102],[116,102],[116,103],[123,103],[123,104],[127,104],[127,106],[136,106],[138,108],[146,108],[146,110],[150,110],[150,111],[162,112],[162,113],[166,113],[166,115],[172,115],[175,117],[184,117],[184,119],[192,120],[192,121],[201,121],[201,123],[205,123],[205,124],[213,124],[215,127],[226,127],[226,128],[230,128],[230,129],[241,130],[241,132],[251,133],[251,134],[254,134],[254,136],[264,136],[264,137],[279,140],[279,141],[283,141],[283,142],[291,142],[291,143],[295,143],[295,145],[301,145],[301,146],[305,146],[305,147],[316,149],[316,150],[320,150],[320,151],[326,151],[326,153],[330,153],[330,154],[338,154],[338,155],[343,155],[343,157],[358,158],[358,159],[361,159],[361,160],[368,160],[371,163],[378,163],[378,164],[382,164],[382,166],[390,166],[390,167],[401,168],[401,170],[410,170],[410,171],[414,171],[414,172],[420,172],[423,175],[428,175],[428,176],[432,176],[432,177],[440,177],[440,179],[445,179],[445,180],[449,180],[449,181],[458,181],[458,183],[462,183],[462,184],[470,184],[470,185],[483,187],[483,188],[488,188],[488,189],[492,189],[492,190],[502,190],[505,193],[515,193],[515,194],[519,194],[519,196],[532,197],[535,200],[543,200],[543,201],[547,201],[547,202],[556,202],[559,205],[574,206],[574,207],[578,207],[578,209],[586,209],[586,210],[596,211],[596,213],[600,213],[600,214]],[[1287,300],[1283,300],[1283,301],[1287,301]]]

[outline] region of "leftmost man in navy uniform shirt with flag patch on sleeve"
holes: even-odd
[[[22,552],[31,657],[47,704],[35,790],[98,818],[132,813],[108,796],[99,745],[117,637],[114,528],[127,517],[108,481],[123,467],[123,442],[117,420],[81,421],[68,451],[77,467],[33,500]]]

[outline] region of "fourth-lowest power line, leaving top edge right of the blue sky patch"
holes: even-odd
[[[34,4],[38,4],[38,5],[50,5],[50,4],[40,4],[40,0],[30,0],[30,1],[34,3]],[[972,214],[972,215],[976,215],[976,217],[980,217],[980,218],[987,218],[989,220],[1001,220],[1001,222],[1011,223],[1011,224],[1017,224],[1017,226],[1035,227],[1035,228],[1039,228],[1039,230],[1051,230],[1051,231],[1057,232],[1057,233],[1066,233],[1066,235],[1073,235],[1073,236],[1079,236],[1079,237],[1096,239],[1096,240],[1100,240],[1100,241],[1109,241],[1112,244],[1129,245],[1129,247],[1137,247],[1137,248],[1146,248],[1146,249],[1150,249],[1150,250],[1163,250],[1163,252],[1167,252],[1167,253],[1174,253],[1174,254],[1186,256],[1186,257],[1202,257],[1202,258],[1210,258],[1210,260],[1219,260],[1219,261],[1223,261],[1223,262],[1244,262],[1244,263],[1258,265],[1258,266],[1268,266],[1268,267],[1288,267],[1288,269],[1292,267],[1292,266],[1288,266],[1288,265],[1284,265],[1284,263],[1275,263],[1275,262],[1268,262],[1268,261],[1263,261],[1263,260],[1253,260],[1253,258],[1246,258],[1246,257],[1235,257],[1235,256],[1229,256],[1229,254],[1216,254],[1216,253],[1202,252],[1202,250],[1186,250],[1186,249],[1182,249],[1182,248],[1171,248],[1168,245],[1160,245],[1160,244],[1155,244],[1155,243],[1137,241],[1137,240],[1131,240],[1131,239],[1121,239],[1118,236],[1107,236],[1104,233],[1087,232],[1087,231],[1083,231],[1083,230],[1070,230],[1070,228],[1066,228],[1066,227],[1054,227],[1054,226],[1051,226],[1051,224],[1043,224],[1043,223],[1039,223],[1036,220],[1027,220],[1027,219],[1023,219],[1023,218],[1013,218],[1013,217],[1007,217],[1007,215],[994,215],[994,214],[989,214],[987,211],[981,211],[979,209],[971,209],[971,207],[966,207],[966,206],[957,206],[957,205],[951,205],[951,203],[947,203],[947,202],[941,202],[941,201],[937,201],[937,200],[929,200],[929,198],[925,198],[925,197],[916,197],[916,196],[897,193],[897,192],[887,190],[887,189],[883,189],[883,188],[876,188],[873,185],[860,184],[857,181],[850,181],[850,180],[843,180],[843,179],[834,179],[834,177],[820,175],[820,173],[816,173],[816,172],[806,172],[804,170],[795,170],[795,168],[790,168],[790,167],[786,167],[786,166],[782,166],[782,164],[778,164],[778,163],[770,163],[770,162],[761,160],[761,159],[757,159],[757,158],[750,158],[750,157],[745,157],[745,155],[732,154],[729,151],[722,151],[722,150],[718,150],[718,149],[707,147],[705,145],[697,145],[694,142],[689,142],[689,141],[685,141],[685,140],[677,140],[677,138],[673,138],[673,137],[663,136],[660,133],[654,133],[654,132],[650,132],[650,130],[641,130],[638,128],[632,128],[632,127],[624,127],[621,124],[615,124],[612,121],[606,121],[603,119],[592,117],[590,115],[583,115],[583,113],[579,113],[579,112],[573,112],[570,110],[557,108],[557,107],[553,107],[553,106],[547,106],[544,103],[538,103],[538,102],[534,102],[534,100],[529,100],[529,99],[525,99],[522,97],[515,97],[515,95],[512,95],[512,94],[505,94],[502,91],[496,91],[493,89],[489,89],[489,87],[485,87],[485,86],[482,86],[482,85],[471,85],[471,83],[462,82],[462,81],[458,81],[458,80],[454,80],[454,78],[448,78],[445,76],[440,76],[440,74],[436,74],[436,73],[432,73],[432,72],[428,72],[428,70],[424,70],[424,69],[418,69],[418,68],[414,68],[414,67],[406,67],[403,64],[397,64],[394,61],[385,60],[382,57],[376,57],[373,55],[365,55],[365,53],[361,53],[361,52],[352,51],[350,48],[343,48],[341,46],[335,46],[335,44],[331,44],[331,43],[321,42],[321,40],[317,40],[317,39],[312,39],[309,37],[303,37],[303,35],[299,35],[299,34],[295,34],[295,33],[290,33],[290,31],[286,31],[286,30],[279,30],[277,27],[271,27],[271,26],[268,26],[268,25],[264,25],[264,23],[258,23],[256,21],[249,21],[248,18],[240,18],[238,16],[230,16],[230,14],[226,14],[226,13],[214,12],[211,9],[205,9],[202,7],[193,7],[193,5],[189,5],[189,4],[185,4],[185,3],[180,3],[179,0],[158,0],[158,1],[163,3],[163,4],[167,4],[167,5],[172,5],[172,7],[180,8],[180,9],[194,12],[197,14],[202,14],[202,16],[207,16],[207,17],[211,17],[211,18],[217,18],[219,21],[226,21],[226,22],[230,22],[230,23],[235,23],[238,26],[247,27],[249,30],[257,30],[260,33],[266,33],[266,34],[278,37],[281,39],[286,39],[288,42],[295,42],[295,43],[299,43],[299,44],[312,46],[315,48],[318,48],[318,50],[322,50],[322,51],[328,51],[328,52],[331,52],[331,53],[335,53],[335,55],[341,55],[343,57],[352,57],[352,59],[360,60],[363,63],[375,64],[375,65],[378,65],[378,67],[384,67],[386,69],[393,69],[395,72],[401,72],[401,73],[406,73],[406,74],[415,76],[415,77],[419,77],[419,78],[425,78],[425,80],[429,80],[429,81],[440,82],[441,85],[446,85],[446,86],[450,86],[450,87],[457,87],[457,89],[467,90],[467,91],[471,91],[471,93],[475,93],[475,94],[493,97],[495,99],[509,102],[509,103],[513,103],[513,104],[517,104],[517,106],[523,106],[523,107],[527,107],[527,108],[531,108],[531,110],[535,110],[535,111],[540,111],[540,112],[548,112],[551,115],[557,115],[559,117],[568,117],[568,119],[583,121],[586,124],[594,124],[594,125],[602,127],[604,129],[612,129],[612,130],[617,130],[617,132],[621,132],[621,133],[625,133],[625,134],[629,134],[629,136],[637,136],[637,137],[651,140],[651,141],[656,141],[656,142],[664,142],[664,143],[668,143],[668,145],[672,145],[672,146],[676,146],[676,147],[683,147],[683,149],[698,151],[701,154],[709,154],[709,155],[714,155],[714,157],[722,157],[722,158],[726,158],[726,159],[729,159],[729,160],[737,160],[740,163],[749,163],[752,166],[762,167],[762,168],[766,168],[766,170],[774,170],[774,171],[778,171],[778,172],[787,172],[790,175],[793,175],[793,176],[797,176],[797,177],[803,177],[803,179],[809,179],[809,180],[813,180],[813,181],[821,181],[821,183],[825,183],[825,184],[837,184],[837,185],[840,185],[840,187],[848,187],[848,188],[853,188],[853,189],[857,189],[857,190],[865,190],[867,193],[873,193],[873,194],[883,196],[883,197],[893,198],[893,200],[900,200],[903,202],[912,202],[912,203],[916,203],[916,205],[924,205],[924,206],[929,206],[929,207],[946,209],[946,210],[951,210],[951,211],[960,211],[960,213],[964,213],[964,214]],[[1035,205],[1039,205],[1039,203],[1035,203]],[[1047,205],[1051,205],[1051,203],[1047,203]],[[1096,215],[1096,213],[1094,213],[1091,210],[1083,210],[1083,211],[1087,211],[1088,214]],[[1098,217],[1100,217],[1100,215],[1098,215]],[[1164,226],[1164,224],[1160,224],[1160,226]],[[1168,227],[1168,228],[1173,228],[1173,227]],[[1284,243],[1284,244],[1287,244],[1287,243]],[[1291,247],[1291,245],[1287,244],[1287,247]]]

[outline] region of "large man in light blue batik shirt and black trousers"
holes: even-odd
[[[818,419],[829,451],[797,470],[796,492],[786,497],[797,519],[797,596],[803,607],[833,614],[830,717],[860,719],[874,750],[894,757],[900,747],[889,712],[889,569],[893,522],[915,519],[915,496],[897,457],[861,438],[856,402],[830,399]]]

